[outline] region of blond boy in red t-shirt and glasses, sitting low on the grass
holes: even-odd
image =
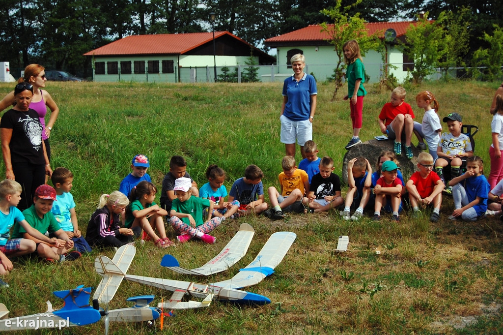
[[[445,184],[438,174],[433,171],[433,157],[429,153],[423,152],[417,157],[416,171],[410,176],[405,184],[409,192],[410,206],[413,209],[412,216],[417,218],[421,215],[419,206],[425,208],[433,205],[433,213],[430,217],[431,222],[437,222],[440,218],[440,205],[442,204],[442,191]]]

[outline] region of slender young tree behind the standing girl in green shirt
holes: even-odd
[[[321,24],[322,31],[328,34],[327,41],[334,46],[337,55],[337,65],[334,70],[334,77],[336,78],[336,88],[333,91],[332,101],[335,100],[337,91],[343,85],[342,77],[343,70],[346,69],[344,62],[343,46],[349,41],[356,39],[360,46],[362,56],[370,50],[374,49],[381,51],[384,49],[382,42],[379,41],[377,35],[368,36],[365,29],[365,21],[360,18],[356,13],[354,16],[348,16],[348,12],[362,0],[358,0],[354,5],[342,7],[342,0],[337,0],[336,6],[332,9],[324,9],[321,12],[330,17],[331,23],[326,22]],[[333,22],[333,23],[332,23]]]

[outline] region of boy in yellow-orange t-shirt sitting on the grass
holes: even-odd
[[[264,215],[273,220],[283,219],[283,212],[303,213],[304,205],[308,199],[304,199],[305,192],[309,193],[309,178],[304,170],[297,169],[295,158],[285,156],[281,161],[283,172],[278,175],[281,194],[276,187],[268,188],[271,209]]]

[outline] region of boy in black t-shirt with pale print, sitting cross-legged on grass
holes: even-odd
[[[323,157],[319,163],[319,172],[309,185],[309,208],[311,213],[326,212],[337,208],[344,202],[341,196],[341,181],[333,171],[333,160]]]

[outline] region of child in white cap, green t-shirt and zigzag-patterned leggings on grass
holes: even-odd
[[[192,195],[192,182],[189,178],[177,178],[174,186],[177,198],[173,200],[171,208],[170,222],[175,231],[181,235],[177,236],[180,243],[189,241],[193,237],[201,239],[204,243],[215,243],[215,237],[208,235],[225,217],[214,217],[213,202]],[[203,222],[203,211],[209,207],[208,221]]]

